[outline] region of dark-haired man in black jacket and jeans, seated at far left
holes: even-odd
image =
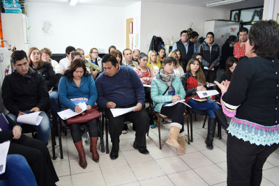
[[[43,116],[43,120],[38,126],[31,126],[38,131],[38,139],[47,143],[50,137],[50,120],[43,111],[50,101],[47,82],[42,75],[29,67],[27,54],[23,50],[13,52],[11,59],[16,70],[4,78],[1,90],[3,104],[9,111],[7,116],[17,121],[20,115],[41,111],[39,116]]]

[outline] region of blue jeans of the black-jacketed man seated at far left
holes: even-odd
[[[29,111],[22,111],[24,113],[28,113]],[[7,116],[9,116],[13,121],[17,123],[17,116],[8,113]],[[38,140],[43,141],[45,144],[47,143],[47,140],[50,138],[50,119],[47,117],[47,114],[45,114],[45,111],[41,111],[39,116],[43,116],[43,120],[40,122],[40,125],[31,125],[33,128],[35,128],[38,131]],[[24,126],[28,124],[24,123],[17,123],[17,125]]]

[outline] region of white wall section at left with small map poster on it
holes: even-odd
[[[59,3],[27,3],[30,47],[48,47],[52,53],[65,53],[72,45],[89,54],[92,47],[115,45],[126,48],[125,8],[110,6],[70,6]],[[42,21],[52,21],[53,36],[43,36]]]

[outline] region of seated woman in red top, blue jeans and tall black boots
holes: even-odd
[[[206,137],[206,148],[213,149],[213,139],[216,128],[216,118],[220,124],[227,129],[227,119],[218,104],[212,100],[200,99],[196,91],[206,91],[204,72],[199,59],[190,59],[187,65],[187,73],[181,77],[181,82],[186,91],[186,103],[193,109],[204,110],[209,114],[208,133]]]

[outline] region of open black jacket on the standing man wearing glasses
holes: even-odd
[[[181,51],[181,60],[183,61],[183,70],[184,72],[186,72],[186,67],[188,64],[188,61],[190,61],[190,59],[192,58],[193,54],[194,54],[194,47],[195,47],[195,43],[188,40],[189,44],[188,44],[188,52],[186,53],[186,49],[184,47],[184,44],[181,40],[179,40],[178,42],[176,42],[176,47],[177,49],[179,49]]]

